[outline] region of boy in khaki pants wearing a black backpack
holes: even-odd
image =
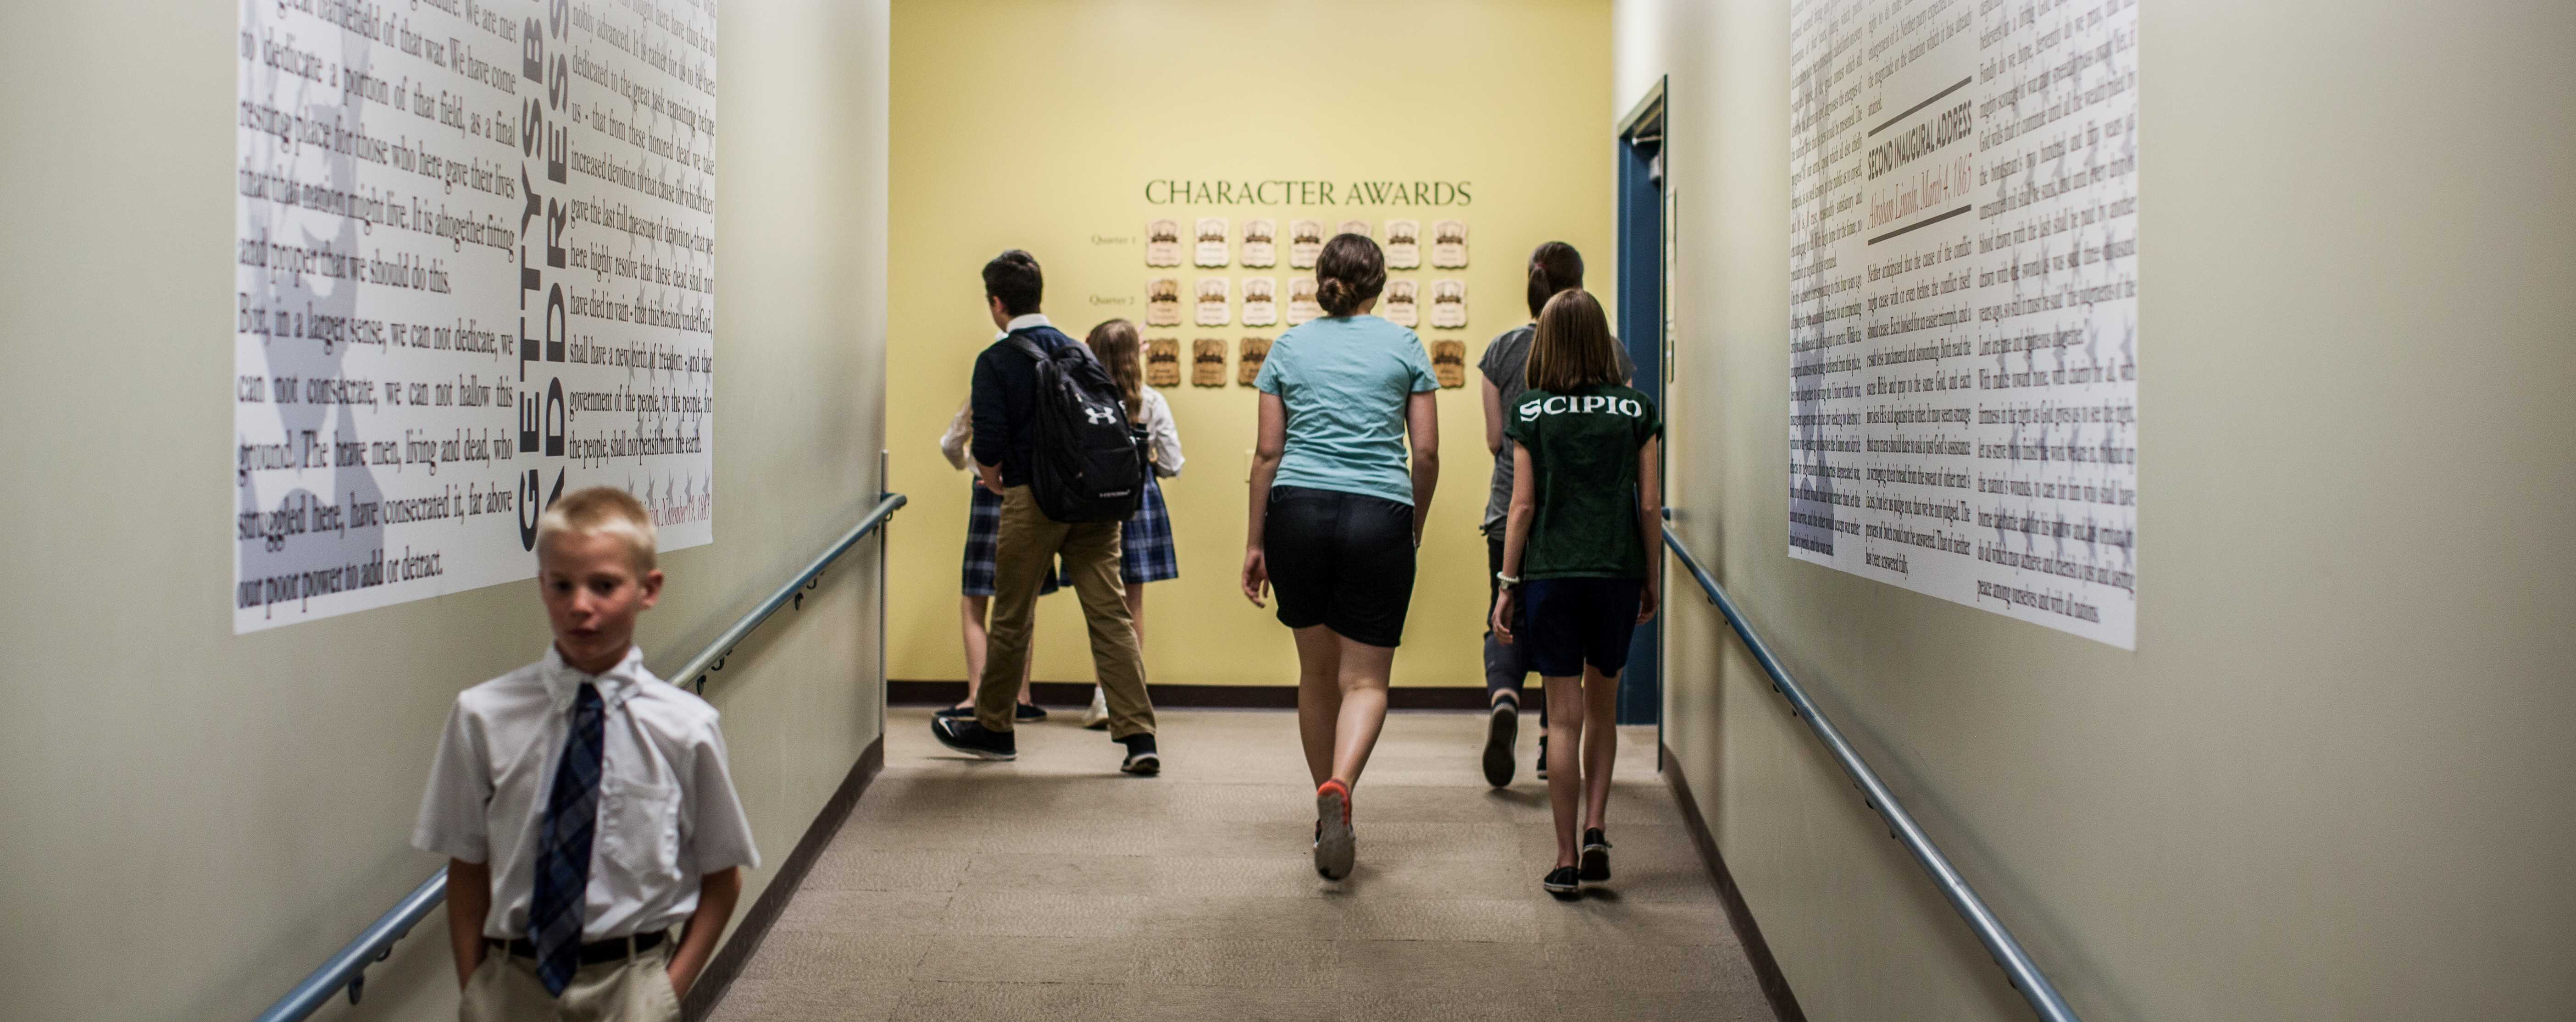
[[[1010,250],[984,263],[984,306],[1002,340],[974,363],[971,453],[984,489],[1002,497],[994,535],[992,626],[976,716],[933,718],[940,744],[984,759],[1015,759],[1012,703],[1028,674],[1038,590],[1064,561],[1082,600],[1110,711],[1110,736],[1126,747],[1118,770],[1162,770],[1154,703],[1118,574],[1121,523],[1136,515],[1146,466],[1115,384],[1087,348],[1038,311],[1046,283],[1038,260]]]

